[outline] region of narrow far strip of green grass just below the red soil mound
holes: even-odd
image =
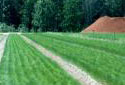
[[[53,33],[48,33],[53,34]],[[94,39],[106,39],[106,40],[120,40],[125,38],[125,34],[123,33],[97,33],[97,32],[90,32],[90,33],[54,33],[55,35],[65,35],[65,36],[72,36],[78,38],[94,38]]]

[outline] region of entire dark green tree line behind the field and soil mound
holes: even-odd
[[[0,30],[4,31],[80,32],[101,16],[125,16],[125,1],[0,0]]]

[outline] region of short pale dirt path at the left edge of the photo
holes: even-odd
[[[8,38],[8,33],[1,35],[0,37],[0,62],[4,53],[4,48],[5,48],[5,44],[6,44],[6,40]]]

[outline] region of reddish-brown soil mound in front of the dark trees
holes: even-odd
[[[125,32],[125,17],[101,17],[83,32]]]

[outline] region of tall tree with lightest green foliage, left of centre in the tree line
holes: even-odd
[[[33,14],[34,30],[37,31],[54,31],[54,3],[51,0],[39,0],[35,5]]]

